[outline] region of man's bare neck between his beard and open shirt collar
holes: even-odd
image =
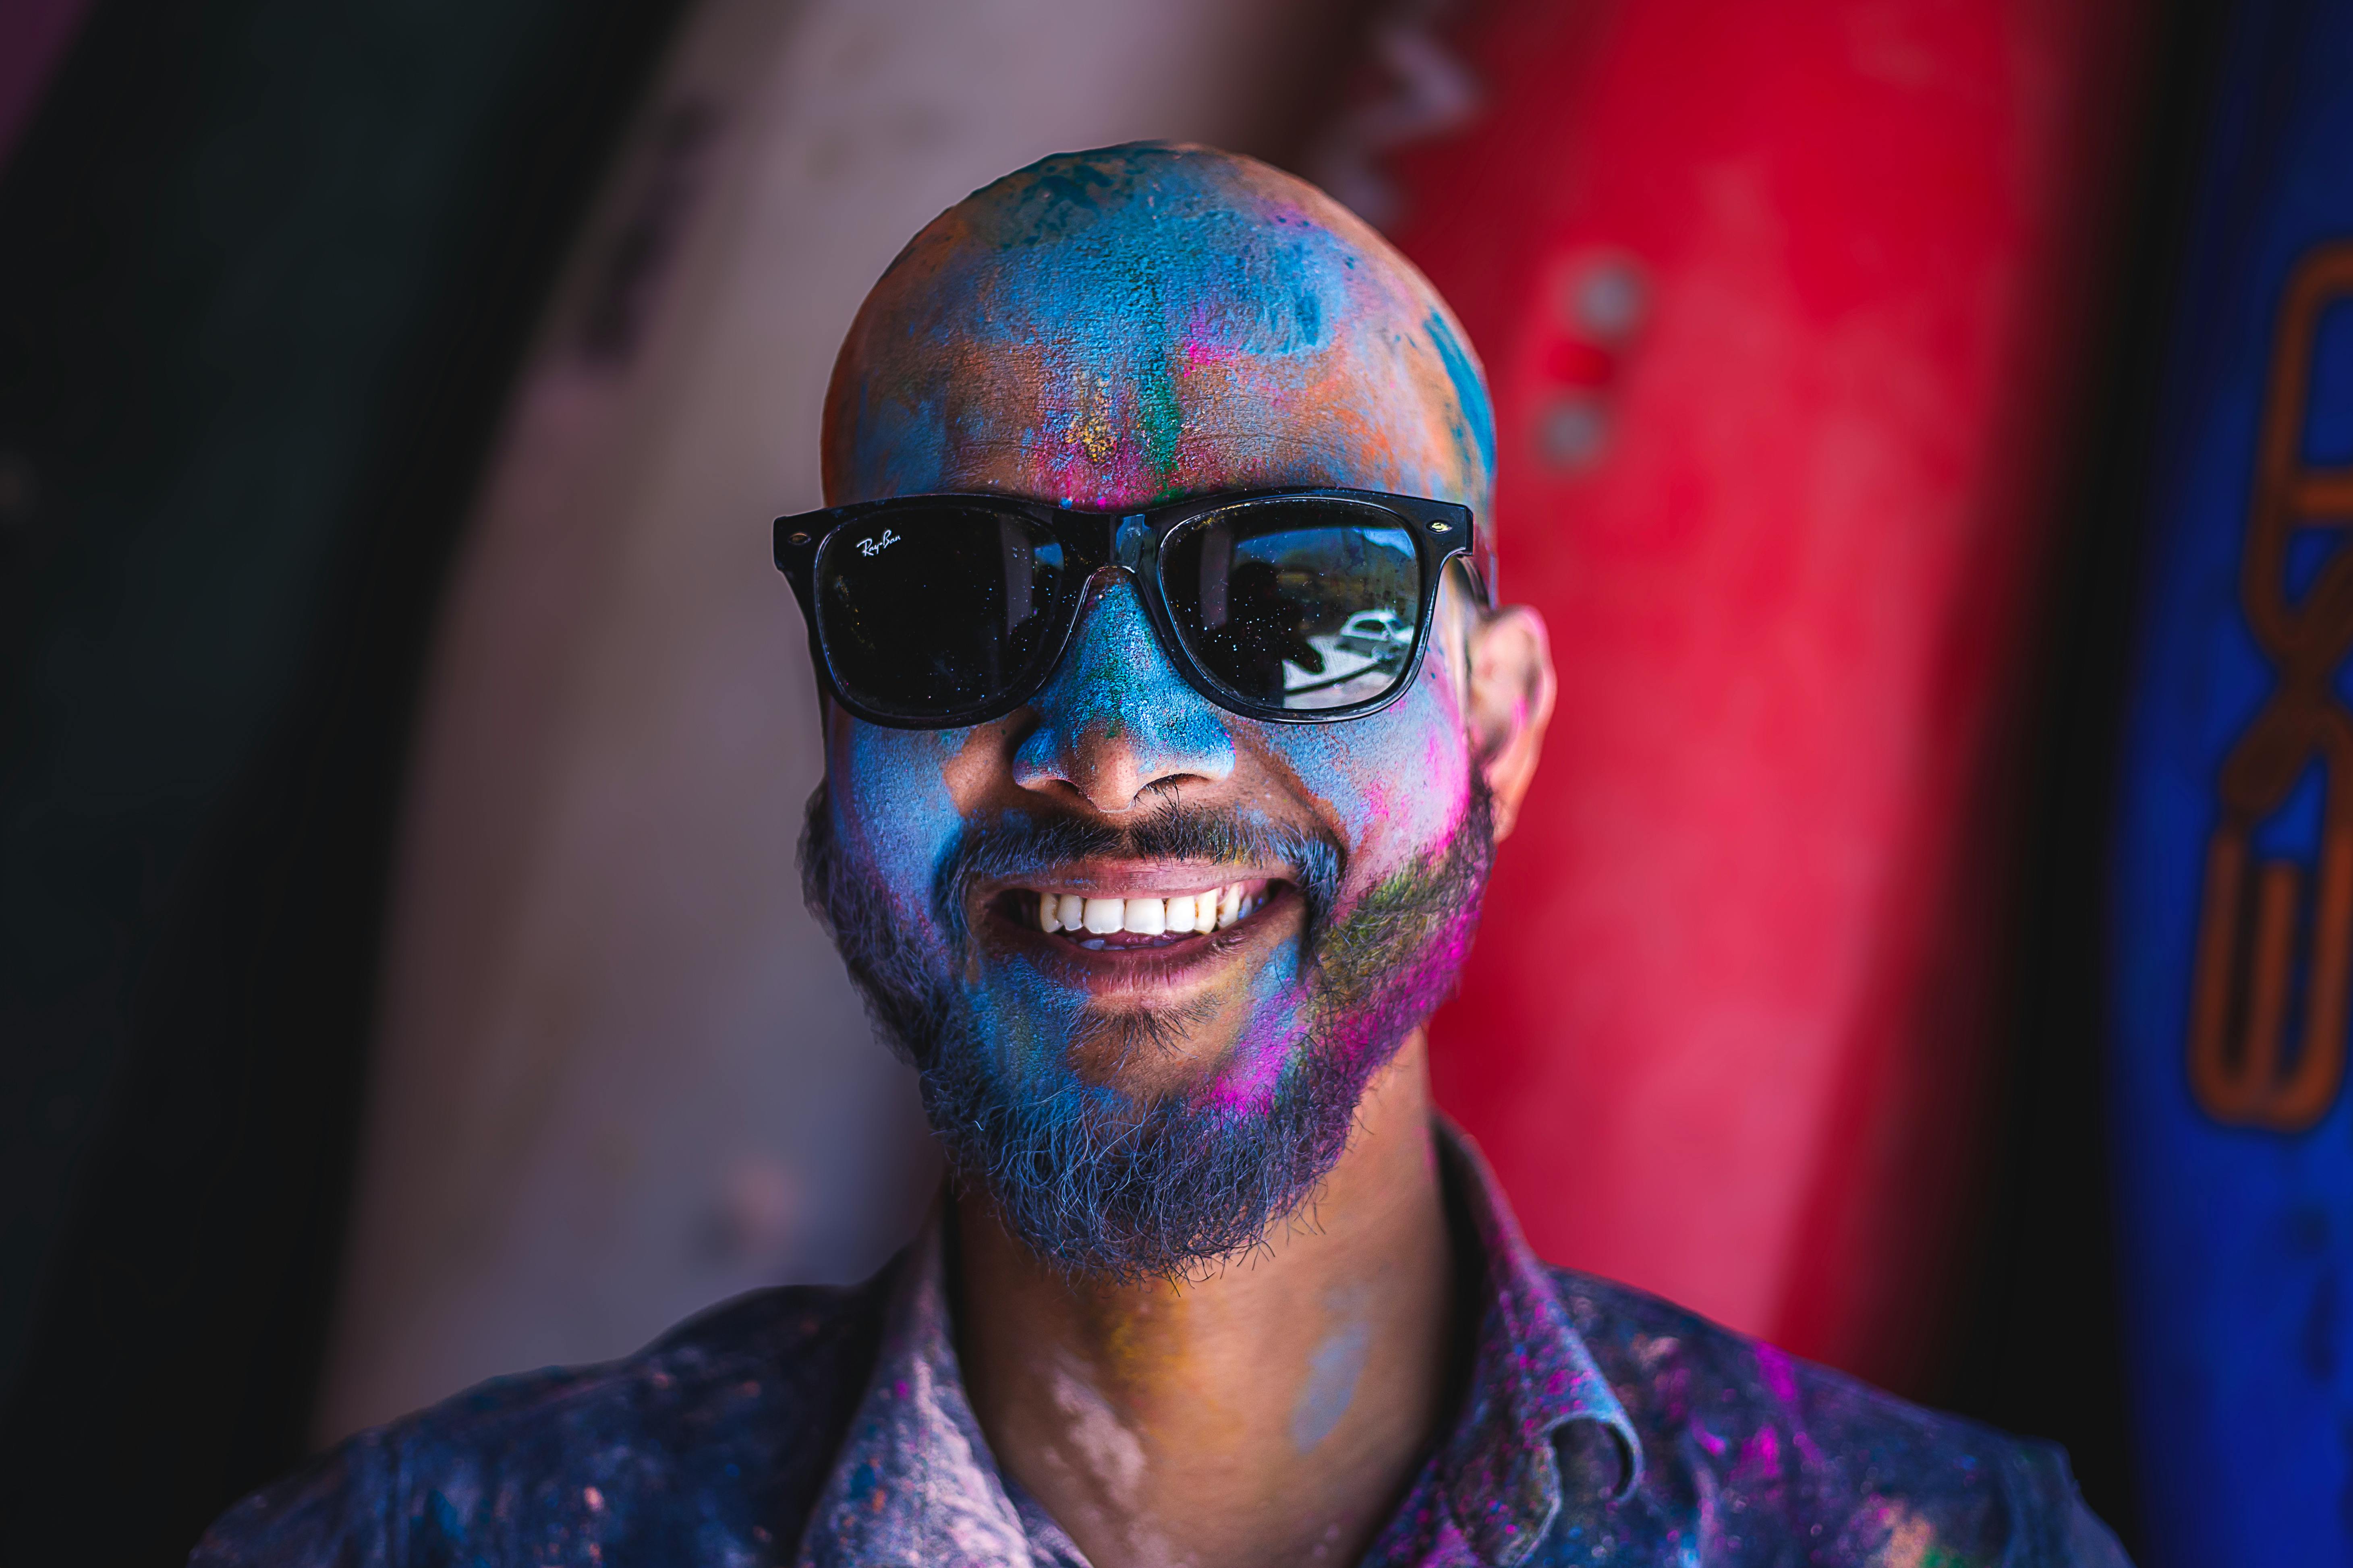
[[[1358,1561],[1445,1413],[1435,1154],[1417,1030],[1313,1206],[1202,1279],[1071,1279],[965,1194],[958,1338],[998,1465],[1094,1568]]]

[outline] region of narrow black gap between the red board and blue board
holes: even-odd
[[[1962,1331],[1932,1403],[2068,1448],[2085,1500],[2141,1554],[2113,1246],[2106,907],[2120,724],[2146,576],[2151,433],[2212,110],[2224,7],[2155,7],[2153,85],[2085,437],[2068,465],[2017,780],[2002,1100]]]

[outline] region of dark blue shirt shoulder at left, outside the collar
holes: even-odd
[[[541,1561],[532,1552],[567,1542],[671,1563],[701,1561],[682,1542],[713,1530],[765,1559],[772,1526],[824,1483],[873,1361],[880,1291],[755,1291],[635,1356],[494,1378],[254,1493],[191,1568]]]

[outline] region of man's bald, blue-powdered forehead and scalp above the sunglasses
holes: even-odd
[[[1478,362],[1428,282],[1313,186],[1207,150],[1054,158],[951,207],[826,400],[835,503],[1351,484],[1485,512],[1489,468]]]

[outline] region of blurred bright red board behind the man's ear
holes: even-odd
[[[1440,1098],[1537,1248],[1920,1387],[1984,1175],[2019,684],[2122,0],[1504,0],[1395,237],[1494,381],[1560,708]]]

